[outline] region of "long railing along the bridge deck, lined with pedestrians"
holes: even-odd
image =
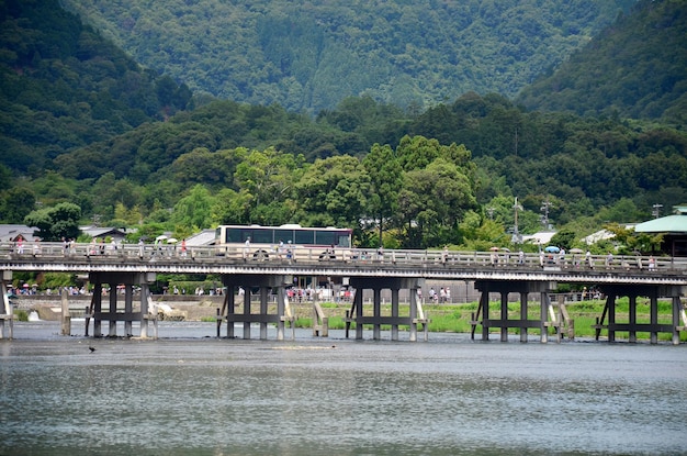
[[[442,249],[369,249],[291,247],[289,249],[236,246],[188,246],[180,244],[95,244],[95,243],[0,243],[0,257],[9,259],[60,259],[89,262],[207,262],[207,263],[347,263],[361,267],[374,264],[401,266],[443,266],[455,268],[539,268],[581,270],[684,271],[687,258],[585,254],[522,254],[510,252],[465,252]]]

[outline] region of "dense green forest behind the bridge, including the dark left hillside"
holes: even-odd
[[[0,222],[67,213],[178,237],[293,222],[367,246],[382,232],[388,247],[488,248],[510,243],[518,198],[520,233],[552,224],[570,247],[687,202],[679,125],[476,92],[423,110],[348,97],[313,116],[192,96],[56,1],[0,0]]]

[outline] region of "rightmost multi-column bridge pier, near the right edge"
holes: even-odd
[[[628,341],[637,342],[638,332],[647,332],[651,344],[658,343],[660,333],[671,334],[673,344],[679,344],[682,331],[686,331],[687,316],[683,309],[680,297],[687,291],[687,287],[682,286],[651,286],[651,285],[604,285],[599,287],[601,292],[606,294],[606,304],[601,313],[600,320],[593,327],[596,330],[596,340],[599,340],[602,330],[608,332],[608,342],[616,341],[616,333],[628,332]],[[617,299],[619,297],[628,297],[628,321],[618,322],[616,310]],[[638,322],[638,301],[639,297],[649,299],[649,323],[645,321]],[[664,315],[663,320],[669,320],[671,323],[658,323],[658,298],[671,299],[671,314]]]

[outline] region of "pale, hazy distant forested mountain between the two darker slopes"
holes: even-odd
[[[316,114],[515,96],[635,0],[61,0],[195,92]]]

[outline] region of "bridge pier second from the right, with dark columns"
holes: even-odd
[[[471,335],[474,338],[475,329],[477,325],[482,326],[482,340],[489,340],[489,330],[492,327],[498,327],[500,331],[500,342],[508,341],[508,330],[510,327],[517,327],[520,332],[520,342],[528,341],[528,330],[540,330],[540,342],[547,343],[549,341],[549,326],[558,327],[560,331],[559,321],[549,321],[549,308],[551,301],[549,299],[549,292],[555,289],[555,282],[550,281],[505,281],[505,280],[477,280],[475,281],[475,288],[481,292],[480,304],[477,307],[477,313],[473,321],[471,321],[472,331]],[[529,293],[540,293],[541,312],[539,320],[528,319],[528,297]],[[499,302],[499,315],[498,319],[491,318],[489,314],[489,294],[498,293],[500,297]],[[520,294],[520,312],[518,319],[509,319],[508,316],[508,296],[510,293]]]

